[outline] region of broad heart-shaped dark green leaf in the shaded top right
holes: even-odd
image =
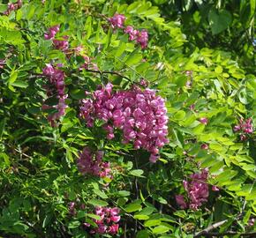
[[[208,14],[209,25],[213,34],[221,33],[226,30],[232,22],[232,16],[230,11],[221,10],[217,12],[212,9]]]

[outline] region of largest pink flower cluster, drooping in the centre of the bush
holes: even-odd
[[[135,149],[151,152],[150,161],[158,159],[159,148],[169,142],[167,109],[162,97],[154,90],[142,91],[138,86],[130,90],[112,92],[108,84],[96,90],[91,98],[82,100],[80,117],[92,127],[95,119],[105,124],[107,138],[115,138],[114,130],[123,131],[123,143],[133,142]],[[90,93],[87,93],[87,95]]]

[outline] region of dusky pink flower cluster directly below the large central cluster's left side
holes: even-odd
[[[99,177],[112,179],[109,162],[102,162],[103,152],[92,152],[85,147],[77,161],[79,171],[82,175],[90,174]]]

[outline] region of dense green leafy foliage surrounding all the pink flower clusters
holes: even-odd
[[[241,141],[233,130],[241,117],[256,124],[255,1],[130,2],[23,1],[5,16],[7,2],[0,1],[4,237],[90,237],[81,224],[93,222],[96,205],[121,209],[117,237],[193,237],[222,220],[211,232],[239,237],[255,230],[248,226],[256,215],[255,133]],[[147,29],[146,49],[109,27],[107,18],[116,12],[124,14],[126,26]],[[100,71],[125,78],[79,71],[81,57],[66,56],[44,40],[55,25],[58,37],[68,35],[70,48],[83,46]],[[41,109],[46,63],[63,63],[69,94],[69,108],[55,128]],[[107,82],[127,89],[141,78],[168,108],[169,144],[155,164],[147,152],[107,140],[100,124],[89,129],[79,119],[85,90]],[[76,160],[86,145],[104,150],[113,180],[79,173]],[[184,194],[183,180],[205,167],[208,183],[220,190],[210,191],[198,211],[180,209],[175,196]],[[78,207],[72,216],[73,201],[86,209]]]

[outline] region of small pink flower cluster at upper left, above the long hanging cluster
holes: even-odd
[[[56,40],[55,36],[56,33],[59,32],[59,26],[52,26],[49,28],[49,32],[44,34],[44,39],[45,40],[52,40],[53,45],[56,49],[60,49],[62,51],[66,51],[69,48],[69,42],[68,40],[68,36],[64,35],[63,39],[64,40]]]

